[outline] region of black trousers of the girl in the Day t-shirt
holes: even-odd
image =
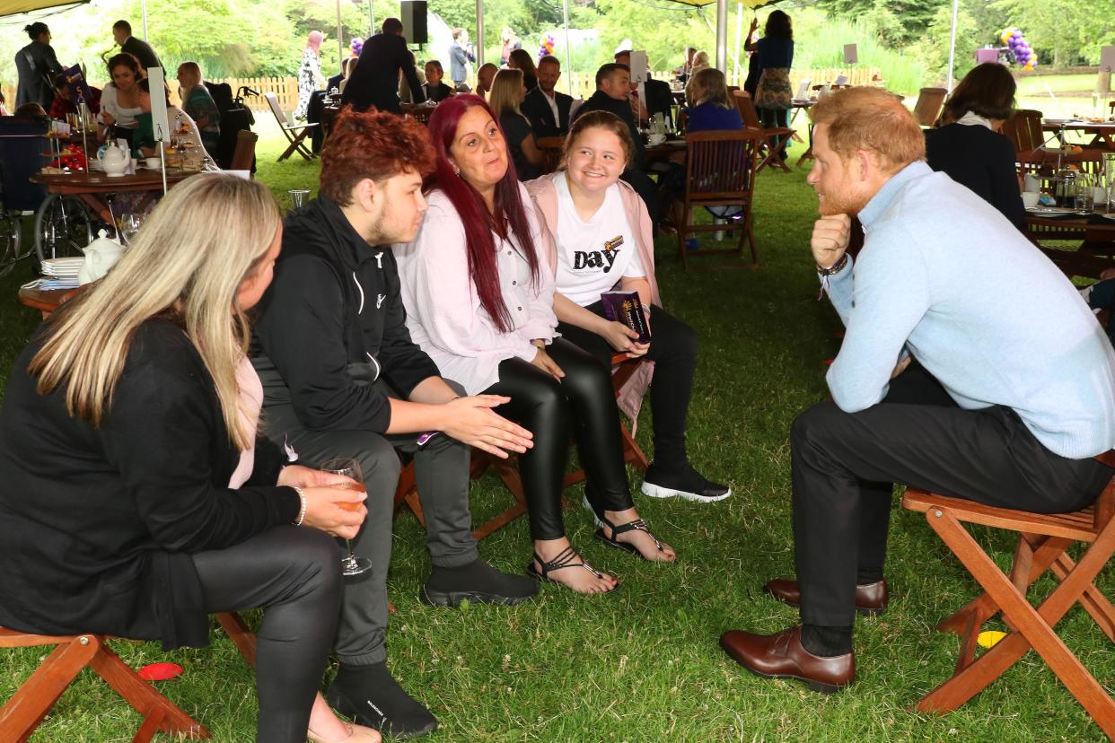
[[[585,307],[603,316],[601,302]],[[592,331],[559,323],[558,332],[568,341],[588,351],[609,372],[614,351]],[[667,471],[685,467],[686,419],[689,416],[689,397],[697,368],[697,332],[662,307],[650,306],[650,350],[647,358],[655,362],[655,378],[650,384],[650,411],[655,429],[655,465]]]

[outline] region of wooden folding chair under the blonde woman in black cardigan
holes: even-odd
[[[255,635],[235,612],[216,615],[236,649],[255,666]],[[85,667],[93,668],[144,721],[132,743],[147,743],[156,732],[190,740],[209,739],[210,732],[140,678],[106,644],[108,635],[36,635],[0,627],[0,647],[54,645],[46,657],[3,708],[0,708],[0,741],[25,743],[42,723],[50,708]]]

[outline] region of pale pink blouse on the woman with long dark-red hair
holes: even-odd
[[[429,354],[442,377],[477,394],[500,381],[500,362],[518,356],[532,361],[534,339],[547,343],[556,334],[554,281],[545,263],[543,235],[530,194],[520,184],[531,239],[541,262],[537,282],[515,239],[496,243],[500,286],[513,327],[500,331],[481,307],[468,276],[465,226],[440,190],[429,194],[429,211],[413,243],[394,246],[403,283],[410,338]]]

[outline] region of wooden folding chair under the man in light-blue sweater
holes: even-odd
[[[1115,451],[1097,459],[1115,467]],[[992,508],[913,488],[906,490],[902,506],[925,514],[930,527],[986,592],[937,626],[941,632],[954,632],[962,637],[960,657],[952,677],[925,696],[918,708],[940,713],[957,710],[1034,648],[1104,733],[1115,739],[1115,701],[1054,632],[1068,609],[1079,604],[1108,639],[1115,642],[1115,607],[1093,583],[1115,553],[1115,519],[1112,518],[1115,478],[1094,505],[1075,514],[1030,514]],[[980,548],[964,524],[1019,534],[1009,574],[1004,574]],[[1077,541],[1088,547],[1074,561],[1067,549]],[[1035,607],[1026,594],[1047,570],[1059,585]],[[1010,632],[977,658],[976,641],[980,627],[1000,612]]]

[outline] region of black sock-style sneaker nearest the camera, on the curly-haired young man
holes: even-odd
[[[391,737],[418,737],[437,730],[437,717],[399,686],[386,663],[342,665],[326,691],[326,701],[358,725]]]

